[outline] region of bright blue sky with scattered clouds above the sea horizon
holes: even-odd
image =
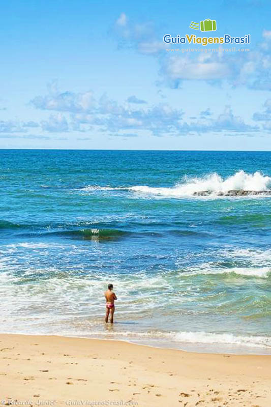
[[[270,151],[270,21],[269,0],[3,2],[0,148]]]

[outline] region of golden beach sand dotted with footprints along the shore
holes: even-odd
[[[271,357],[0,335],[0,398],[17,405],[271,405]],[[100,403],[99,403],[100,402]],[[93,403],[93,404],[92,404]]]

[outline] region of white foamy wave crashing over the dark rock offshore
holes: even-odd
[[[215,196],[226,194],[229,191],[250,191],[252,194],[253,192],[270,191],[271,194],[271,177],[263,176],[259,171],[249,174],[240,170],[223,180],[214,172],[201,178],[184,177],[182,183],[178,183],[172,188],[137,185],[129,189],[134,192],[165,197],[193,196],[204,191]]]

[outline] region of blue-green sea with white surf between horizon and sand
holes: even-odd
[[[271,152],[1,150],[0,169],[1,332],[271,354]]]

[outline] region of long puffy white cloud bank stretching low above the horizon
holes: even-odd
[[[63,113],[63,103],[58,103],[59,95],[72,95],[69,103],[65,104],[66,115]],[[124,137],[132,137],[138,131],[145,131],[148,134],[161,135],[185,135],[191,133],[206,132],[231,132],[232,134],[250,133],[254,134],[259,130],[259,126],[252,126],[238,115],[234,114],[230,106],[225,106],[222,113],[215,118],[209,108],[202,110],[194,117],[190,117],[189,122],[184,122],[184,111],[175,109],[165,103],[154,106],[144,106],[145,101],[138,99],[135,95],[130,96],[124,104],[110,99],[106,94],[100,98],[94,98],[92,103],[83,105],[82,95],[73,92],[56,93],[54,99],[52,95],[40,97],[47,101],[50,97],[52,104],[46,103],[40,107],[47,110],[55,110],[56,114],[50,115],[48,120],[41,122],[43,130],[49,132],[89,132],[103,131]],[[77,101],[80,100],[78,112]],[[269,102],[266,102],[266,106]],[[270,103],[271,105],[271,103]],[[52,107],[53,106],[53,107]],[[77,108],[75,109],[75,106]],[[268,107],[267,106],[267,107]],[[266,108],[267,108],[266,107]],[[268,107],[269,108],[269,107]],[[69,110],[68,110],[69,109]],[[69,114],[69,120],[66,118]],[[256,119],[255,119],[256,120]],[[260,120],[260,119],[257,119]],[[265,128],[266,130],[266,128]]]

